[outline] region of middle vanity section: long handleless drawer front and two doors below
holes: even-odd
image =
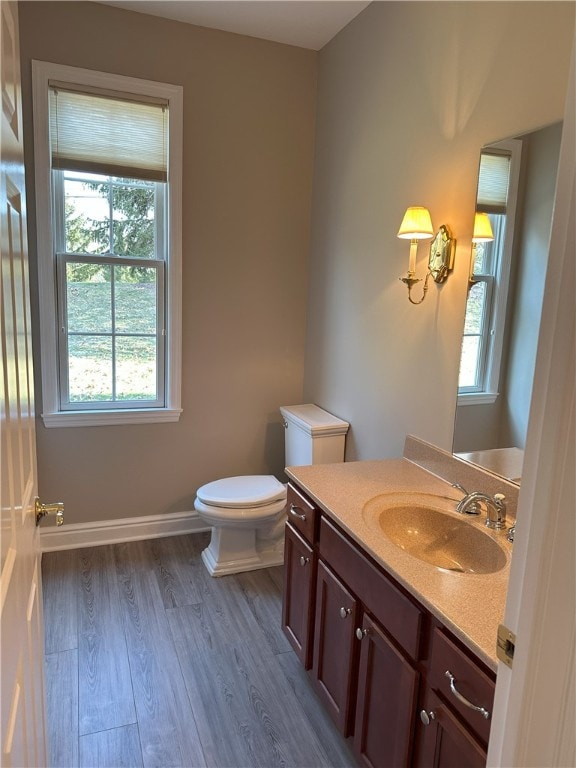
[[[422,609],[320,520],[312,677],[362,765],[410,764]]]

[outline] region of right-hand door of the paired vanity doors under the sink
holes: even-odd
[[[419,673],[366,614],[361,631],[354,748],[363,765],[407,766]]]

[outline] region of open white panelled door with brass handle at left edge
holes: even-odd
[[[18,10],[0,3],[1,765],[45,766],[44,637]]]

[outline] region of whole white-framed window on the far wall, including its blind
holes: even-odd
[[[182,89],[33,63],[46,426],[180,414]]]

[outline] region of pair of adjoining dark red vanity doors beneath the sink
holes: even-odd
[[[368,766],[409,761],[418,672],[336,574],[318,562],[312,677]]]

